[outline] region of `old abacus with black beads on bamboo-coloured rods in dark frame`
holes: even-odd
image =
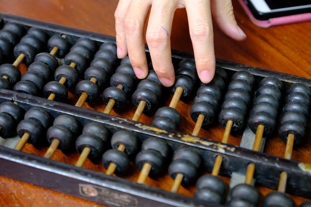
[[[310,164],[291,160],[310,133],[309,79],[217,60],[215,78],[202,84],[193,56],[173,51],[176,82],[164,88],[152,64],[138,80],[129,60],[116,58],[112,37],[11,15],[1,28],[1,176],[112,207],[294,207],[292,196],[311,199]],[[183,101],[187,115],[177,110]],[[193,131],[182,132],[189,123]],[[239,145],[229,144],[233,136]],[[264,151],[275,137],[284,157]],[[272,192],[261,196],[259,186]]]

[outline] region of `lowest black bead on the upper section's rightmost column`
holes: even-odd
[[[279,128],[279,136],[286,143],[289,134],[295,136],[294,144],[300,144],[304,141],[306,128],[299,122],[285,122]]]

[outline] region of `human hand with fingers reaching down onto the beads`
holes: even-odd
[[[212,16],[234,40],[246,38],[235,21],[231,0],[119,0],[115,11],[117,56],[129,55],[138,78],[148,75],[144,26],[149,15],[146,41],[153,68],[164,86],[173,85],[170,34],[177,8],[186,8],[198,76],[208,83],[216,65]]]

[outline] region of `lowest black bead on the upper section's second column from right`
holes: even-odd
[[[273,116],[265,112],[258,112],[250,118],[248,126],[253,133],[256,133],[258,125],[264,126],[263,136],[271,135],[275,129],[276,121]]]

